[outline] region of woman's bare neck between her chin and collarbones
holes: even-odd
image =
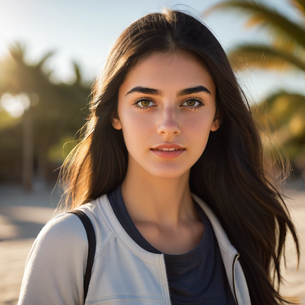
[[[134,223],[175,228],[181,222],[198,219],[189,189],[189,173],[190,170],[177,178],[158,178],[130,160],[121,190]]]

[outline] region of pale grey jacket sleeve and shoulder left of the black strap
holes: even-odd
[[[18,304],[81,303],[87,256],[87,234],[76,215],[48,221],[27,258]]]

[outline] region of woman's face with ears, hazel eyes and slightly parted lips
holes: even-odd
[[[160,178],[177,178],[203,153],[215,116],[215,84],[186,53],[153,53],[138,63],[119,88],[118,118],[135,164]]]

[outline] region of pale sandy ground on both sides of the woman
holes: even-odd
[[[297,190],[296,190],[297,189]],[[41,228],[51,219],[59,196],[57,190],[36,182],[34,191],[23,192],[17,185],[0,185],[0,305],[16,305],[24,266],[30,248]],[[305,249],[305,187],[291,184],[285,189],[286,200]],[[296,256],[291,236],[286,243],[287,270],[282,295],[305,305],[305,251],[301,253],[300,267],[296,270]],[[284,268],[283,268],[284,270]]]

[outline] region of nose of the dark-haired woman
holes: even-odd
[[[167,107],[162,111],[161,121],[157,128],[159,135],[179,135],[180,125],[177,120],[177,114],[172,107]]]

